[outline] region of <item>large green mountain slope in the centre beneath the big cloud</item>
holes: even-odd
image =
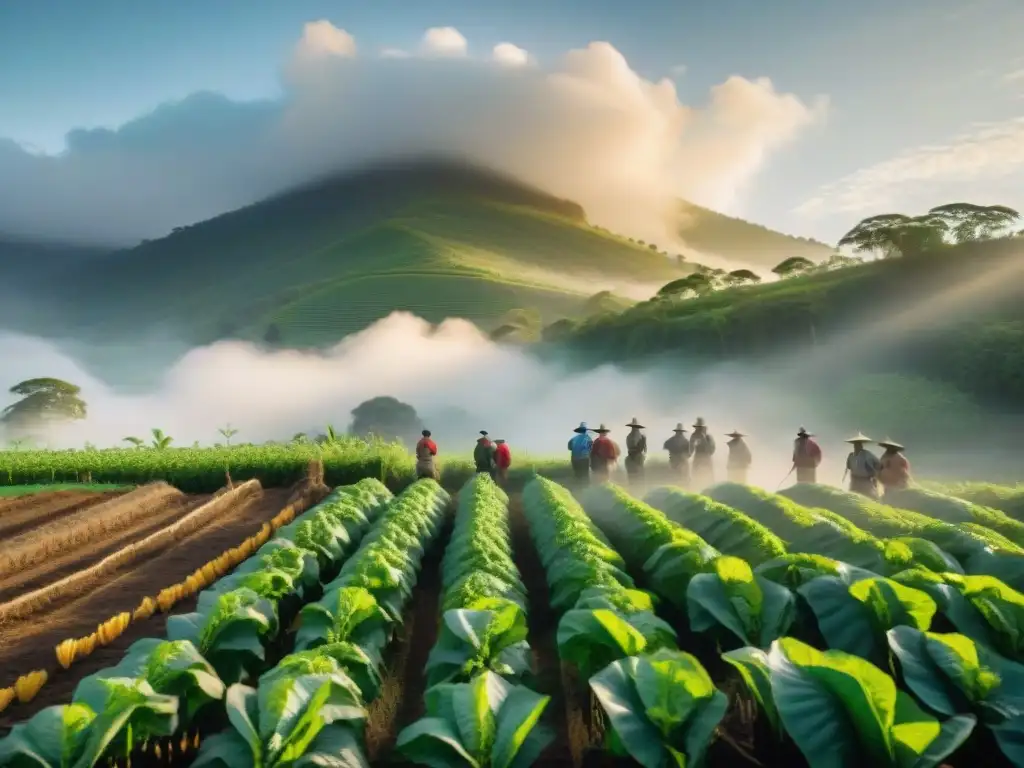
[[[160,328],[205,342],[258,339],[275,325],[282,343],[304,346],[394,309],[485,328],[514,307],[571,316],[595,281],[656,286],[681,273],[592,227],[573,203],[423,164],[322,183],[112,254],[75,274],[61,299],[97,335]]]

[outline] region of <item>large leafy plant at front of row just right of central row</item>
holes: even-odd
[[[728,699],[689,653],[611,663],[590,679],[610,724],[609,748],[644,768],[699,768]]]

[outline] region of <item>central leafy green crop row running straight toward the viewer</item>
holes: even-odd
[[[512,560],[508,497],[485,474],[459,492],[441,581],[426,715],[398,734],[398,752],[419,765],[528,766],[554,738],[541,722],[551,699],[520,684],[531,672],[526,593]]]

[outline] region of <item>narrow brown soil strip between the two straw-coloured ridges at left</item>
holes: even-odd
[[[210,498],[209,496],[191,496],[171,500],[169,503],[154,509],[152,514],[140,517],[134,525],[118,531],[112,537],[89,542],[39,565],[14,573],[0,573],[0,602],[12,600],[32,590],[52,584],[77,570],[87,568],[119,549],[176,522],[197,507],[206,504]]]

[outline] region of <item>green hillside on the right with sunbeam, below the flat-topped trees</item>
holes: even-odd
[[[902,372],[1024,408],[1024,241],[658,298],[560,330],[587,364],[671,358],[802,366],[820,379]]]

